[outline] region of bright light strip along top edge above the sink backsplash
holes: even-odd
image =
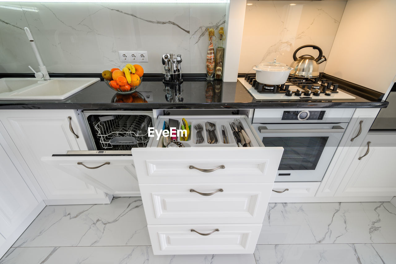
[[[180,4],[218,4],[230,0],[0,0],[0,2],[39,2],[39,3],[180,3]]]

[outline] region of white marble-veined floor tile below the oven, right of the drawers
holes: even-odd
[[[270,203],[257,244],[396,243],[389,202]]]

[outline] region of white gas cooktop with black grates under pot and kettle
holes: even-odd
[[[256,75],[247,73],[238,78],[256,100],[341,100],[356,97],[338,90],[338,84],[324,78],[296,78],[289,76],[286,83],[267,85],[257,82]]]

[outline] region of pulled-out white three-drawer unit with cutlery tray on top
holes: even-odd
[[[154,254],[253,253],[283,148],[263,147],[244,116],[185,118],[217,127],[240,119],[252,147],[200,146],[192,135],[182,148],[157,147],[152,138],[132,149]]]

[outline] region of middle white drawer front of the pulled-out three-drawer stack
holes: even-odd
[[[141,184],[140,191],[148,224],[261,223],[272,185]]]

